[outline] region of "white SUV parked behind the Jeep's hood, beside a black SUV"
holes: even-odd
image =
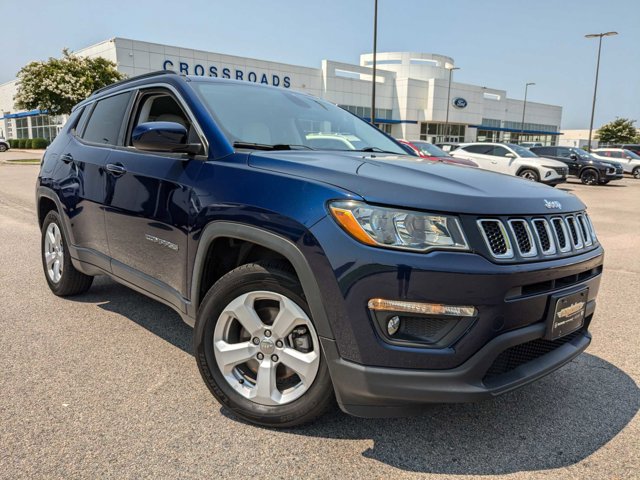
[[[473,160],[485,170],[516,175],[551,186],[565,182],[569,173],[566,164],[538,157],[529,149],[513,143],[463,143],[450,155]]]

